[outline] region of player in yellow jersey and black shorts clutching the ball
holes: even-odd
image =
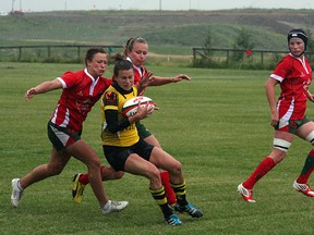
[[[182,222],[167,202],[158,169],[169,172],[177,197],[174,210],[186,212],[192,218],[203,217],[203,213],[186,200],[181,163],[138,136],[135,123],[147,118],[154,109],[138,106],[135,115],[126,118],[122,114],[124,102],[136,96],[133,65],[128,60],[119,59],[113,69],[112,84],[101,98],[104,121],[101,137],[107,161],[116,171],[142,175],[149,180],[150,194],[160,207],[167,224],[180,225]]]

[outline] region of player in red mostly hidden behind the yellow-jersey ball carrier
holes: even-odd
[[[137,85],[143,77],[147,76],[150,72],[147,72],[146,67],[143,65],[148,55],[148,44],[145,39],[141,37],[130,38],[126,41],[124,57],[126,60],[131,61],[134,67],[134,84]],[[152,76],[153,82],[149,86],[161,86],[170,83],[178,83],[182,79],[191,81],[191,78],[185,74],[179,74],[174,77],[158,77]],[[144,95],[144,89],[140,95]],[[136,123],[136,128],[138,131],[138,135],[148,144],[161,148],[157,138],[141,123]],[[109,173],[110,174],[110,173]],[[108,176],[108,172],[102,171],[102,178],[106,180]],[[166,190],[168,203],[173,206],[176,203],[176,195],[173,189],[169,183],[169,174],[167,171],[160,170],[160,177],[162,181],[162,185]],[[81,203],[82,195],[84,188],[88,184],[88,175],[87,174],[75,174],[73,177],[73,198],[76,203]],[[77,188],[77,189],[76,189]]]

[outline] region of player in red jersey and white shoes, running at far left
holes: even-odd
[[[60,174],[71,157],[86,164],[90,186],[102,214],[120,211],[128,206],[128,201],[111,201],[106,196],[99,174],[100,160],[96,152],[81,139],[82,123],[111,84],[110,79],[102,77],[107,69],[107,54],[102,49],[89,49],[85,65],[83,71],[67,72],[53,81],[44,82],[26,91],[25,98],[28,101],[35,95],[63,89],[53,115],[48,122],[48,137],[52,144],[50,161],[35,168],[21,178],[12,180],[11,202],[14,207],[19,206],[24,189],[36,182]],[[106,169],[108,172],[114,172],[111,168]],[[117,177],[121,177],[119,173],[117,174]]]

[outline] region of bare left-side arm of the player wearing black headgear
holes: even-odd
[[[279,114],[277,112],[276,96],[275,96],[275,87],[277,84],[278,81],[274,79],[273,77],[269,77],[265,84],[266,97],[270,108],[271,126],[276,126],[279,122]]]

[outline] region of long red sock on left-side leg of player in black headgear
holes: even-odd
[[[266,157],[255,169],[252,175],[243,183],[243,187],[252,189],[254,185],[259,181],[265,174],[267,174],[276,165],[275,161]]]

